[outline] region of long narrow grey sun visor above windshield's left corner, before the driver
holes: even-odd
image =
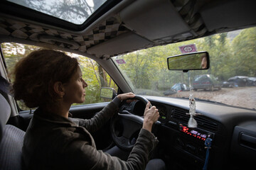
[[[139,47],[151,46],[153,46],[152,42],[130,32],[90,47],[87,52],[97,57],[109,58],[119,53],[138,50]]]

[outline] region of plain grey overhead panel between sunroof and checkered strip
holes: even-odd
[[[154,42],[190,31],[170,0],[134,1],[119,15],[127,28]]]

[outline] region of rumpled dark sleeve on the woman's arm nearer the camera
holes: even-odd
[[[65,160],[67,166],[72,164],[72,169],[145,169],[149,153],[157,143],[156,137],[142,129],[139,132],[137,142],[130,153],[127,162],[112,157],[110,154],[97,150],[88,143],[75,140],[65,150],[65,154],[72,159]]]

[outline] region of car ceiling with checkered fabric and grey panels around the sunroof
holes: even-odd
[[[1,41],[65,48],[104,60],[256,24],[254,0],[116,1],[79,27],[8,1],[0,4]]]

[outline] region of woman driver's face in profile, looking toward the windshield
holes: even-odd
[[[85,87],[87,83],[82,79],[82,72],[78,67],[77,72],[70,81],[64,85],[65,95],[63,101],[68,104],[82,103],[85,101]]]

